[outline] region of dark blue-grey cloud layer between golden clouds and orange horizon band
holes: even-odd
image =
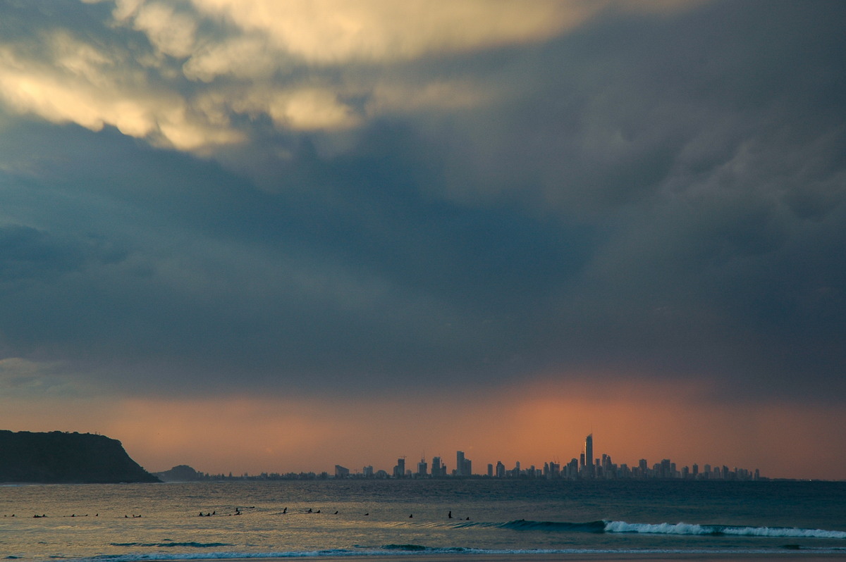
[[[8,117],[3,355],[151,392],[622,370],[842,396],[844,16],[610,13],[385,68],[504,93],[374,118],[338,150],[258,119],[201,160]]]

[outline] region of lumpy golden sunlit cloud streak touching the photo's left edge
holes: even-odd
[[[111,125],[179,150],[242,139],[232,129],[192,116],[177,92],[152,87],[143,69],[128,68],[125,52],[106,52],[65,30],[37,35],[33,41],[43,45],[41,58],[16,46],[0,46],[0,87],[11,110],[92,131]]]

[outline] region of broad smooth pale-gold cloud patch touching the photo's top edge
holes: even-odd
[[[260,32],[310,63],[409,60],[538,41],[579,25],[602,3],[538,0],[193,0],[211,17]]]

